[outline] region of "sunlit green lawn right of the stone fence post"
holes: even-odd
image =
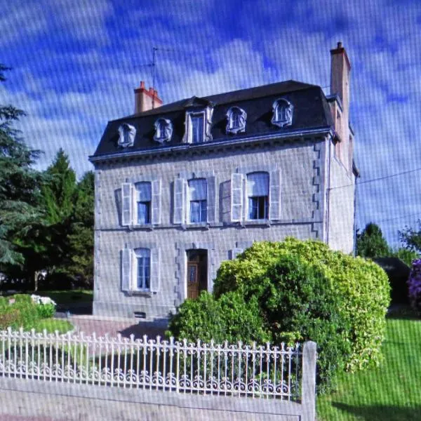
[[[343,373],[338,392],[318,397],[318,421],[421,420],[421,320],[390,316],[382,350],[380,368]]]

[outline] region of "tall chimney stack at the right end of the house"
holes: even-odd
[[[330,50],[330,95],[338,95],[342,105],[332,107],[335,131],[339,135],[341,145],[340,159],[347,168],[352,168],[352,143],[349,139],[349,73],[351,63],[342,42]]]

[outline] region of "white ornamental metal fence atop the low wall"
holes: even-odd
[[[298,344],[217,345],[146,335],[0,331],[0,375],[48,382],[298,401],[306,387],[302,362]]]

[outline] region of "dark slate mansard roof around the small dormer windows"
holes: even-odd
[[[279,128],[271,120],[273,116],[272,105],[275,100],[284,98],[293,105],[293,121],[288,127]],[[176,146],[196,147],[198,144],[185,144],[182,142],[185,134],[185,113],[194,109],[203,109],[206,105],[213,106],[213,116],[210,133],[215,142],[245,140],[255,136],[265,135],[293,135],[294,133],[307,132],[315,129],[333,128],[333,119],[330,114],[328,100],[320,86],[309,85],[297,81],[283,81],[272,83],[256,88],[242,89],[210,95],[203,98],[189,98],[172,102],[168,105],[150,109],[126,116],[122,119],[109,121],[95,154],[90,157],[91,161],[98,161],[102,157],[117,157],[119,154],[135,154],[135,152],[147,152],[153,149],[168,149]],[[238,106],[247,114],[245,133],[227,133],[227,111],[230,107]],[[170,142],[160,145],[154,141],[154,123],[156,119],[164,118],[171,120],[173,135]],[[133,147],[122,148],[118,145],[119,126],[128,123],[136,129]],[[199,145],[203,145],[199,144]],[[152,150],[151,150],[152,152]]]

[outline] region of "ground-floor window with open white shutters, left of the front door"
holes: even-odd
[[[121,250],[121,290],[123,292],[158,292],[160,273],[159,248],[142,246]]]

